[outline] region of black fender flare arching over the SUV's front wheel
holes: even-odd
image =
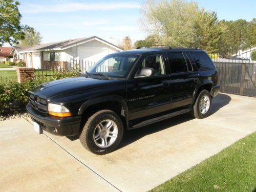
[[[109,96],[102,96],[102,97],[96,97],[93,99],[89,99],[86,102],[82,103],[82,105],[79,108],[78,115],[82,115],[84,111],[86,111],[89,106],[92,106],[94,104],[99,104],[102,102],[108,102],[108,101],[118,101],[120,102],[122,108],[124,109],[124,118],[126,120],[126,124],[128,125],[129,120],[129,109],[127,106],[126,101],[123,97],[119,95],[109,95]]]

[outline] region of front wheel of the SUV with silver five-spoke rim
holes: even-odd
[[[115,150],[122,136],[121,118],[111,110],[101,110],[87,120],[79,135],[79,140],[88,151],[104,155]]]

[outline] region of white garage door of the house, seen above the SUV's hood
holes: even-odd
[[[102,57],[108,54],[108,50],[106,48],[78,48],[78,56],[80,60],[80,67],[82,68],[83,61],[83,69],[88,70],[91,67],[91,63],[97,62]],[[88,63],[90,62],[90,65]],[[85,63],[87,63],[85,65]],[[82,69],[81,69],[82,70]]]

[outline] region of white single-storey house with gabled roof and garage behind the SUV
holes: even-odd
[[[74,61],[96,62],[105,55],[122,51],[119,47],[99,37],[70,39],[41,44],[22,50],[26,67],[35,69],[70,69]]]

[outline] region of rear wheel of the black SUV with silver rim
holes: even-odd
[[[204,102],[201,101],[201,100],[204,100]],[[210,114],[211,105],[212,104],[211,104],[211,95],[210,95],[210,93],[207,90],[203,90],[199,93],[199,95],[197,97],[197,100],[196,100],[196,102],[193,106],[193,109],[191,110],[191,115],[195,118],[198,118],[198,119],[206,118]]]

